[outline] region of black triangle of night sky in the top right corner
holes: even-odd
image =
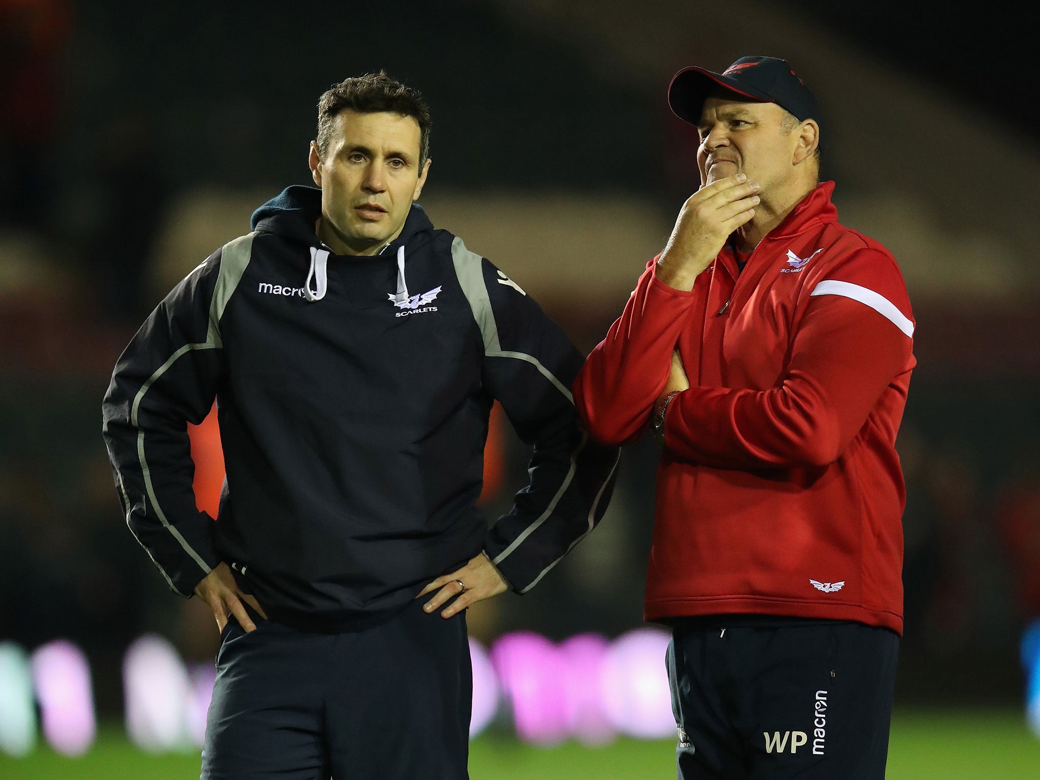
[[[1026,17],[1003,3],[775,2],[976,107],[981,129],[991,120],[1003,130],[1040,138],[1035,25],[1029,22],[1035,11]]]

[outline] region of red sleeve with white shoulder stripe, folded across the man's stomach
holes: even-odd
[[[913,368],[910,301],[890,257],[862,250],[809,281],[776,387],[682,391],[665,421],[673,454],[716,468],[827,466]]]

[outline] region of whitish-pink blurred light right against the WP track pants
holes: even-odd
[[[603,658],[601,693],[610,723],[641,739],[675,733],[672,697],[665,670],[670,634],[640,628],[619,636]]]

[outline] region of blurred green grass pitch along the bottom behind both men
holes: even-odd
[[[568,743],[524,746],[500,736],[472,744],[473,780],[647,780],[674,778],[675,744],[619,739],[602,748]],[[147,755],[119,729],[103,730],[81,758],[38,748],[27,758],[0,756],[3,780],[186,780],[199,777],[199,756]],[[892,720],[888,780],[1037,780],[1040,738],[1016,711],[912,710]]]

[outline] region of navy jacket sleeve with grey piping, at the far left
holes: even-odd
[[[103,435],[131,532],[176,593],[219,563],[213,520],[196,506],[187,423],[213,406],[224,366],[216,331],[218,251],[159,304],[120,356]]]

